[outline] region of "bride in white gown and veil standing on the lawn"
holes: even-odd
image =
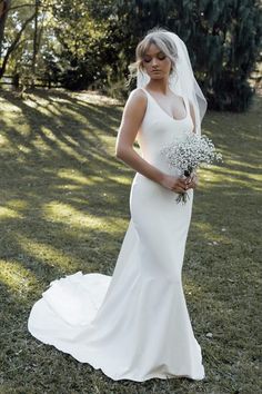
[[[112,277],[81,272],[57,279],[29,317],[29,331],[114,381],[204,377],[181,272],[196,176],[179,177],[161,154],[200,134],[205,99],[182,40],[154,30],[137,48],[138,88],[124,108],[117,157],[133,168],[131,220]],[[178,93],[179,92],[179,93]],[[133,149],[138,139],[142,156]],[[190,199],[178,204],[184,193]]]

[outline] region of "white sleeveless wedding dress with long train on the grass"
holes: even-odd
[[[184,97],[187,116],[173,119],[147,96],[138,135],[141,152],[171,174],[160,151],[192,130],[189,101]],[[201,347],[181,278],[193,189],[188,193],[187,204],[178,204],[175,193],[138,173],[131,220],[112,277],[78,272],[53,280],[31,309],[30,333],[114,381],[202,380]]]

